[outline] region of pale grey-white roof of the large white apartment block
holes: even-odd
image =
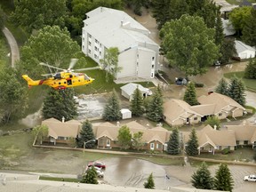
[[[157,45],[148,37],[149,30],[126,12],[98,7],[86,15],[84,29],[107,48],[115,46],[123,51],[140,43]]]

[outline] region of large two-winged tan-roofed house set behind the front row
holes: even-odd
[[[208,116],[225,119],[244,116],[245,108],[226,95],[212,92],[197,98],[200,105],[190,106],[184,100],[168,100],[164,103],[164,121],[172,126],[197,124]]]

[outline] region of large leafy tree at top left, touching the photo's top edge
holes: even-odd
[[[29,32],[47,25],[64,27],[66,0],[14,0],[14,5],[13,23],[27,28]]]

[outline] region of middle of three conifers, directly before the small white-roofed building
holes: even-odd
[[[132,115],[133,116],[142,116],[144,113],[143,108],[143,97],[139,88],[137,87],[132,94]]]

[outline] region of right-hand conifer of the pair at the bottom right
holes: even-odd
[[[220,164],[215,173],[215,189],[232,192],[234,181],[227,164]]]

